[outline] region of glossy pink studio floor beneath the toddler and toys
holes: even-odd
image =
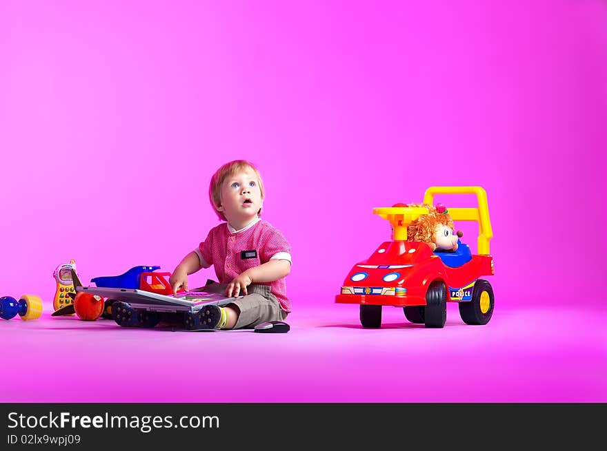
[[[497,307],[487,326],[299,308],[287,334],[2,320],[3,402],[607,401],[607,313]],[[6,388],[10,387],[10,390]]]

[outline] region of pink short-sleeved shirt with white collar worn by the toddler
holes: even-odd
[[[227,222],[213,227],[195,252],[203,268],[215,267],[220,284],[229,284],[243,271],[270,260],[291,261],[291,247],[286,238],[269,222],[259,218],[239,231]],[[291,311],[284,277],[260,285],[269,285],[281,308]]]

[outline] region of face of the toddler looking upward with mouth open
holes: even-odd
[[[221,185],[221,205],[217,210],[230,224],[252,220],[261,209],[261,191],[255,171],[250,167],[226,177]]]

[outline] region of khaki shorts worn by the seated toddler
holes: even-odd
[[[226,293],[227,286],[227,284],[218,284],[208,280],[201,290],[209,293]],[[235,329],[254,328],[257,324],[264,322],[286,319],[288,313],[280,307],[275,295],[270,292],[270,286],[251,284],[247,286],[247,292],[248,295],[227,304],[237,307],[240,311],[234,325]]]

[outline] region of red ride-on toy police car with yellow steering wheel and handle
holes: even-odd
[[[493,275],[489,253],[492,229],[487,195],[481,187],[430,187],[424,204],[432,205],[434,195],[476,194],[478,208],[450,208],[453,220],[479,223],[478,254],[472,255],[468,244],[459,242],[455,252],[432,252],[425,242],[410,242],[407,226],[428,209],[387,207],[373,213],[390,221],[392,238],[382,243],[372,255],[357,263],[335,297],[339,304],[360,304],[364,327],[381,326],[381,307],[403,307],[412,323],[442,328],[446,321],[446,303],[459,303],[459,314],[466,324],[487,324],[493,313],[493,289],[479,277]]]

